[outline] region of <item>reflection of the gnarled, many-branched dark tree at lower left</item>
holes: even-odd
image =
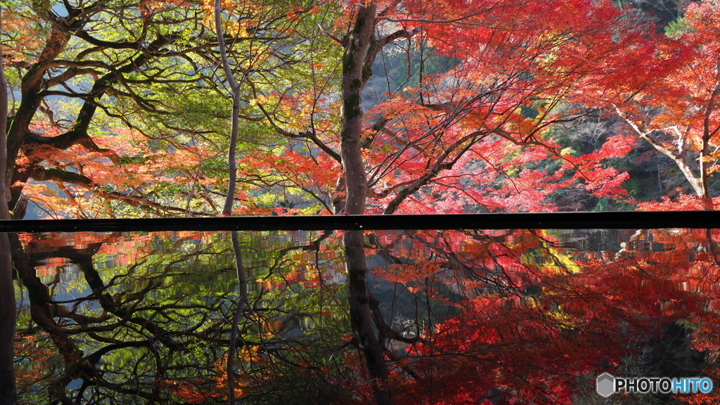
[[[163,386],[189,375],[213,373],[213,360],[219,355],[197,350],[189,342],[195,337],[221,340],[217,337],[220,334],[213,331],[222,321],[199,311],[217,310],[225,293],[205,300],[189,295],[163,300],[152,300],[148,296],[157,292],[163,277],[189,274],[192,270],[182,270],[176,264],[189,261],[202,250],[189,252],[181,260],[162,266],[145,263],[156,271],[137,274],[145,280],[132,280],[143,266],[143,262],[138,262],[124,274],[116,274],[104,282],[92,259],[102,244],[79,249],[64,246],[55,257],[75,264],[90,292],[60,301],[35,275],[35,266],[46,259],[48,253],[24,249],[17,237],[11,239],[11,244],[15,267],[30,300],[32,321],[48,333],[63,359],[61,374],[54,377],[49,387],[53,401],[132,403],[135,400],[130,400],[131,396],[169,401],[162,393]],[[137,284],[138,288],[123,290],[120,288],[123,284]],[[73,380],[76,380],[72,383],[74,388],[69,388]]]

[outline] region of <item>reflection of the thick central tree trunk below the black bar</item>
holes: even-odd
[[[373,329],[370,292],[367,289],[367,263],[363,231],[348,231],[343,236],[345,263],[348,271],[348,300],[350,301],[350,324],[360,350],[363,352],[367,369],[372,378],[375,403],[392,404],[390,391],[385,386],[387,365],[382,346]]]

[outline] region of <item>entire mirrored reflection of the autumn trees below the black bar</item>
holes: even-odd
[[[13,236],[16,362],[42,378],[19,392],[199,404],[230,381],[246,404],[592,403],[603,370],[714,376],[720,233],[618,234],[619,251],[521,230]]]

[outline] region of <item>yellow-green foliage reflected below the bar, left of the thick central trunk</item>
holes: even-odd
[[[336,396],[326,373],[338,369],[333,355],[338,356],[341,337],[348,334],[346,304],[338,301],[344,287],[328,278],[336,274],[338,262],[330,251],[303,251],[318,236],[310,234],[305,242],[304,235],[297,236],[300,241],[293,234],[240,235],[250,303],[240,323],[238,352],[252,349],[272,360],[241,362],[241,372],[255,380],[246,389],[252,401],[270,403],[267,393],[285,395],[278,391],[282,386],[305,389],[307,398],[315,392],[318,403]],[[83,316],[112,315],[94,322],[93,334],[71,338],[84,353],[79,367],[87,368],[89,385],[65,386],[69,380],[61,363],[43,363],[46,383],[21,391],[21,401],[30,403],[48,386],[55,386],[53,395],[79,395],[96,403],[140,404],[152,392],[158,401],[189,400],[183,399],[187,386],[195,387],[191,391],[197,395],[222,399],[229,319],[238,298],[228,233],[138,233],[105,246],[91,261],[74,255],[78,265],[64,265],[59,280],[45,279],[66,308],[74,302],[73,311]],[[312,259],[328,277],[310,288],[303,283],[318,271],[307,264]],[[265,287],[268,282],[271,288]],[[69,301],[68,295],[73,297]],[[27,329],[19,330],[32,334],[27,308],[19,311]],[[77,326],[63,322],[68,330]],[[52,348],[50,340],[44,344]],[[17,365],[20,371],[28,367],[27,362]],[[268,378],[269,368],[275,378]]]

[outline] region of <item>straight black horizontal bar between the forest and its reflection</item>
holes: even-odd
[[[0,221],[0,232],[296,231],[353,229],[720,228],[720,211],[307,215]]]

